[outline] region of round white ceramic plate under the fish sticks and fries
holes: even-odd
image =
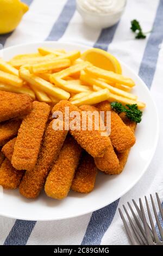
[[[67,51],[87,50],[87,47],[82,45],[64,42],[39,42],[5,48],[3,57],[5,60],[9,60],[16,54],[35,52],[40,46],[65,48]],[[145,83],[126,64],[121,64],[123,74],[133,78],[136,82],[134,93],[147,104],[143,112],[142,122],[137,125],[136,144],[130,151],[128,162],[122,174],[106,176],[99,173],[95,189],[90,194],[79,194],[70,191],[68,197],[62,201],[48,198],[44,191],[36,200],[30,200],[23,198],[18,190],[4,190],[3,198],[0,199],[0,215],[37,221],[77,217],[114,202],[140,180],[152,160],[158,141],[158,114]]]

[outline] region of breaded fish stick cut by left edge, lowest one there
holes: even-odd
[[[0,185],[3,188],[15,189],[19,186],[24,171],[21,172],[12,167],[10,161],[5,158],[0,168]]]

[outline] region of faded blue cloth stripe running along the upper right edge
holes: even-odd
[[[152,33],[149,36],[142,63],[139,70],[139,76],[151,88],[155,74],[156,64],[159,56],[159,45],[163,40],[163,0],[160,0],[156,17],[153,23]]]

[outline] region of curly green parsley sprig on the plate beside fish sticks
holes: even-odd
[[[112,109],[114,109],[117,113],[126,113],[126,117],[128,117],[131,121],[136,123],[141,122],[142,111],[137,107],[137,104],[123,106],[120,102],[112,102]]]

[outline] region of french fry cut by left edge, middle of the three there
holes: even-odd
[[[10,86],[21,87],[23,85],[23,80],[15,75],[11,75],[7,72],[0,70],[0,82],[7,83]]]

